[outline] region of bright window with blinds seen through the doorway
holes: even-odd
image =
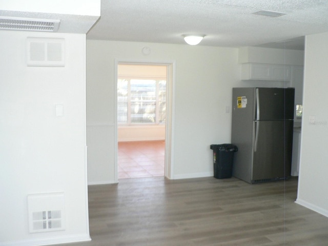
[[[166,80],[118,78],[118,124],[165,124],[166,84]]]

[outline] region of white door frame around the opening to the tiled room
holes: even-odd
[[[158,60],[128,60],[115,59],[115,116],[114,116],[114,180],[118,183],[118,137],[117,137],[117,69],[119,64],[131,65],[161,65],[167,66],[167,117],[165,124],[165,171],[164,176],[172,179],[174,177],[174,115],[175,115],[175,61]]]

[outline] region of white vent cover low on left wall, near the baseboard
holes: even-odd
[[[27,202],[30,233],[65,230],[64,192],[31,194]]]

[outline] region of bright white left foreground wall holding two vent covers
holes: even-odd
[[[65,67],[27,67],[29,36],[64,38]],[[90,240],[86,35],[0,31],[0,47],[0,245]],[[50,192],[64,192],[66,230],[30,234],[27,196]]]

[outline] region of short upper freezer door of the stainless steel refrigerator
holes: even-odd
[[[294,94],[294,88],[256,88],[255,119],[293,119]]]

